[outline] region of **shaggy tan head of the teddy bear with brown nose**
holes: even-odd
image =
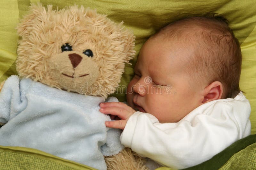
[[[83,6],[32,5],[17,30],[20,77],[90,96],[113,93],[135,54],[132,32]]]

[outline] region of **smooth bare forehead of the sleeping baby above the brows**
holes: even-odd
[[[179,41],[148,39],[140,50],[135,69],[174,71],[185,67],[193,55],[191,45],[184,46]]]

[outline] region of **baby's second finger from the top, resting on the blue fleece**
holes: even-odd
[[[120,107],[106,107],[100,108],[100,112],[104,114],[111,114],[120,117],[121,119],[127,119],[132,113]]]

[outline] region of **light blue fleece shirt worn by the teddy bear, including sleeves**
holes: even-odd
[[[118,100],[109,98],[108,102]],[[121,131],[105,126],[103,97],[85,96],[31,79],[9,77],[0,92],[0,145],[35,148],[97,169],[120,152]]]

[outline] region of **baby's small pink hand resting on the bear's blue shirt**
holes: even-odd
[[[124,129],[128,119],[136,111],[121,102],[100,103],[100,112],[118,116],[121,120],[106,121],[105,125],[110,128]]]

